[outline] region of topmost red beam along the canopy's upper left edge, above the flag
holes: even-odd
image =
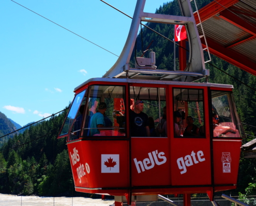
[[[210,4],[206,5],[202,9],[199,10],[199,15],[201,18],[201,22],[211,18],[212,16],[216,15],[220,11],[225,10],[226,8],[236,4],[238,0],[216,0],[217,2],[211,2]],[[197,24],[199,24],[198,13],[194,13],[194,19]]]

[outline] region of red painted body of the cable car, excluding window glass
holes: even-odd
[[[90,82],[88,84],[121,85],[118,82]],[[126,108],[128,111],[128,83]],[[173,123],[173,88],[185,85],[130,84],[141,87],[166,88],[168,137],[166,138],[81,138],[68,142],[68,152],[76,191],[102,195],[185,194],[189,205],[191,193],[207,193],[236,188],[240,155],[240,140],[210,139],[207,92],[204,95],[205,138],[176,138]],[[84,86],[86,87],[86,86]],[[231,89],[210,88],[231,91]],[[116,99],[119,102],[119,99]],[[126,115],[129,128],[129,115]],[[211,142],[213,141],[213,156]],[[212,159],[213,166],[212,167]],[[130,168],[131,165],[131,168]],[[213,177],[214,175],[214,182]],[[214,183],[215,185],[212,185]],[[223,186],[223,184],[226,184]],[[130,191],[131,190],[131,191]],[[131,193],[130,193],[131,192]],[[122,204],[121,204],[122,205]]]

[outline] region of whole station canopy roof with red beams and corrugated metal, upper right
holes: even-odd
[[[199,15],[209,52],[256,76],[256,0],[214,0]]]

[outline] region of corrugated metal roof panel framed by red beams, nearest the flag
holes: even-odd
[[[228,47],[251,37],[250,33],[234,26],[218,16],[213,16],[203,22],[203,29],[207,38],[214,40],[224,47]],[[200,25],[198,26],[198,30],[200,35],[202,35]]]

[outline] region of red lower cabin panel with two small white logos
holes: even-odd
[[[215,184],[237,183],[241,145],[240,140],[213,140]]]

